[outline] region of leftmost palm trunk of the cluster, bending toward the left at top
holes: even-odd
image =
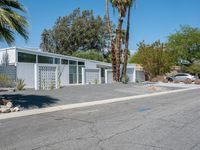
[[[115,56],[116,48],[115,48],[115,42],[112,36],[112,27],[111,27],[110,17],[109,17],[108,0],[106,0],[106,24],[107,24],[107,29],[109,32],[110,44],[111,44],[113,80],[116,81],[116,56]]]

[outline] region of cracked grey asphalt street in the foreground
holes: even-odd
[[[0,120],[0,150],[199,150],[199,89]]]

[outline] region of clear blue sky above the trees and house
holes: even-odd
[[[30,23],[30,39],[27,43],[16,37],[13,46],[39,47],[41,32],[51,28],[59,16],[72,12],[75,8],[92,9],[95,15],[105,15],[105,0],[19,0],[27,8]],[[117,12],[110,17],[117,21]],[[130,49],[134,52],[137,43],[155,40],[166,41],[170,33],[182,25],[200,27],[200,0],[137,0],[132,10]],[[7,45],[3,44],[3,47]]]

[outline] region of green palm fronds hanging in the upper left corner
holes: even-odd
[[[17,0],[0,0],[0,40],[9,45],[15,41],[15,33],[28,40],[28,22],[18,12],[26,10]]]

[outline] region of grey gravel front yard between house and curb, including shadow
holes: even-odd
[[[142,95],[178,89],[178,87],[159,87],[156,90],[146,84],[101,84],[68,86],[52,91],[27,89],[19,92],[1,92],[3,98],[10,99],[14,105],[24,109],[44,108],[72,103],[81,103],[110,98]]]

